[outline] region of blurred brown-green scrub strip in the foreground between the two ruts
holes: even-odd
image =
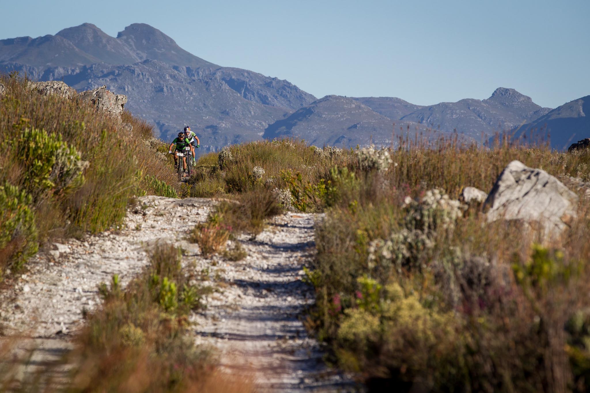
[[[179,249],[156,245],[126,289],[118,277],[101,285],[107,296],[65,359],[72,365],[65,390],[187,391],[207,381],[215,361],[194,344],[187,316],[211,290],[192,279]]]

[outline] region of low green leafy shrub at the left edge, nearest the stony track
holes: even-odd
[[[38,249],[32,197],[18,187],[0,186],[0,277],[18,270]]]

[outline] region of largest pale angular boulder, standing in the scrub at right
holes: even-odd
[[[578,196],[541,169],[512,161],[486,199],[488,222],[499,219],[538,223],[545,236],[557,236],[576,216]]]

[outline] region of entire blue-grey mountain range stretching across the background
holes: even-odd
[[[569,111],[542,108],[510,88],[498,88],[485,100],[430,106],[396,97],[318,100],[289,81],[196,57],[146,24],[132,24],[116,38],[86,23],[55,35],[3,39],[0,71],[63,80],[77,90],[107,85],[126,94],[127,109],[155,124],[161,138],[170,140],[188,124],[208,151],[263,137],[343,147],[389,144],[415,133],[430,139],[458,133],[466,141],[486,141],[497,132],[513,130],[519,137],[539,128],[539,122],[566,124],[563,119],[570,117],[581,124],[579,138],[590,136],[584,114],[588,97],[569,103]],[[571,138],[568,126],[559,127],[551,134],[557,144]]]

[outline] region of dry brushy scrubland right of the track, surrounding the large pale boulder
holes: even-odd
[[[585,189],[572,187],[578,219],[550,244],[454,200],[466,186],[489,191],[512,160],[588,181],[590,153],[400,142],[337,153],[297,141],[232,146],[201,158],[191,193],[274,194],[326,212],[307,324],[369,389],[587,391]]]

